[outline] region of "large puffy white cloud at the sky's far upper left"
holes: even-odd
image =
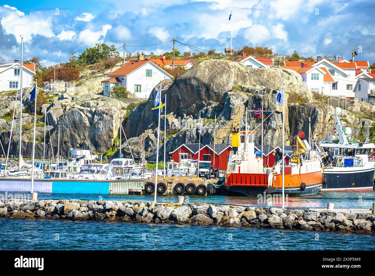
[[[24,15],[23,12],[6,6],[4,6],[5,9],[0,7],[0,14],[3,14],[0,24],[6,34],[13,34],[16,37],[17,42],[21,42],[20,35],[24,36],[25,42],[31,41],[33,35],[42,35],[48,38],[55,36],[51,29],[51,17],[45,17],[41,12]]]

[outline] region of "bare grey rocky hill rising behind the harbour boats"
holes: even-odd
[[[48,119],[46,140],[46,156],[56,154],[58,129],[60,128],[60,149],[64,157],[70,148],[80,147],[105,153],[108,157],[118,156],[118,134],[120,118],[123,124],[130,148],[138,157],[141,151],[141,141],[145,136],[147,157],[156,158],[157,115],[153,115],[153,107],[158,84],[151,92],[147,102],[127,99],[118,100],[103,97],[101,81],[106,75],[118,68],[105,72],[82,71],[79,81],[65,87],[63,83],[56,84],[44,93],[48,103],[43,105],[42,112],[37,117],[37,146],[36,155],[43,154],[44,110]],[[285,139],[300,130],[308,133],[308,119],[301,114],[311,117],[312,133],[315,140],[323,140],[327,131],[332,131],[328,124],[327,98],[312,94],[302,84],[302,78],[294,71],[278,68],[255,69],[247,68],[238,62],[227,60],[206,60],[193,66],[173,81],[164,80],[161,83],[162,94],[166,95],[166,152],[170,152],[182,143],[198,142],[198,125],[201,124],[201,142],[213,143],[214,117],[216,115],[216,143],[231,144],[231,130],[238,127],[245,109],[254,110],[263,105],[264,110],[274,111],[264,125],[264,143],[272,146],[280,145],[282,141],[282,106],[275,106],[275,94],[285,86]],[[22,151],[28,157],[32,148],[33,114],[29,114],[31,88],[24,89],[23,97],[23,136]],[[296,97],[296,95],[298,97]],[[290,100],[288,100],[290,99]],[[139,104],[140,103],[140,104]],[[0,93],[0,141],[5,153],[9,144],[10,128],[14,104],[16,113],[19,111],[19,101],[15,102],[15,92]],[[138,105],[139,104],[139,105]],[[338,99],[334,98],[334,106]],[[353,128],[355,138],[361,139],[366,134],[365,126],[372,124],[374,107],[369,103],[347,101],[345,121]],[[138,105],[138,106],[137,106]],[[136,107],[135,107],[136,106]],[[133,110],[133,108],[135,109]],[[131,111],[131,112],[130,112]],[[269,113],[264,113],[268,116]],[[18,118],[18,115],[16,115]],[[253,127],[260,124],[260,118],[249,116],[249,124]],[[10,154],[18,152],[19,139],[18,120],[15,121],[10,143]],[[164,130],[164,114],[160,122],[161,137]],[[261,143],[261,131],[258,128],[257,143]],[[270,137],[270,139],[268,138]],[[163,139],[160,138],[163,148]],[[129,154],[129,149],[123,140],[123,154]],[[0,154],[3,154],[0,149]],[[18,153],[17,153],[18,154]],[[160,151],[162,155],[162,150]]]

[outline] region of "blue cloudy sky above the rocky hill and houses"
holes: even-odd
[[[65,62],[70,50],[81,53],[96,42],[126,51],[161,54],[177,41],[222,52],[233,46],[263,45],[279,54],[341,55],[375,62],[373,0],[138,0],[17,1],[0,4],[0,63],[39,56],[43,65]],[[148,47],[136,45],[159,44]],[[176,48],[196,52],[176,44]],[[121,50],[121,49],[120,49]],[[122,52],[120,52],[122,54]]]

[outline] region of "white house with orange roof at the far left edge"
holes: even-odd
[[[18,59],[14,63],[0,63],[0,91],[16,90],[21,85],[21,64]],[[24,64],[22,74],[22,86],[31,87],[35,75],[34,64]]]

